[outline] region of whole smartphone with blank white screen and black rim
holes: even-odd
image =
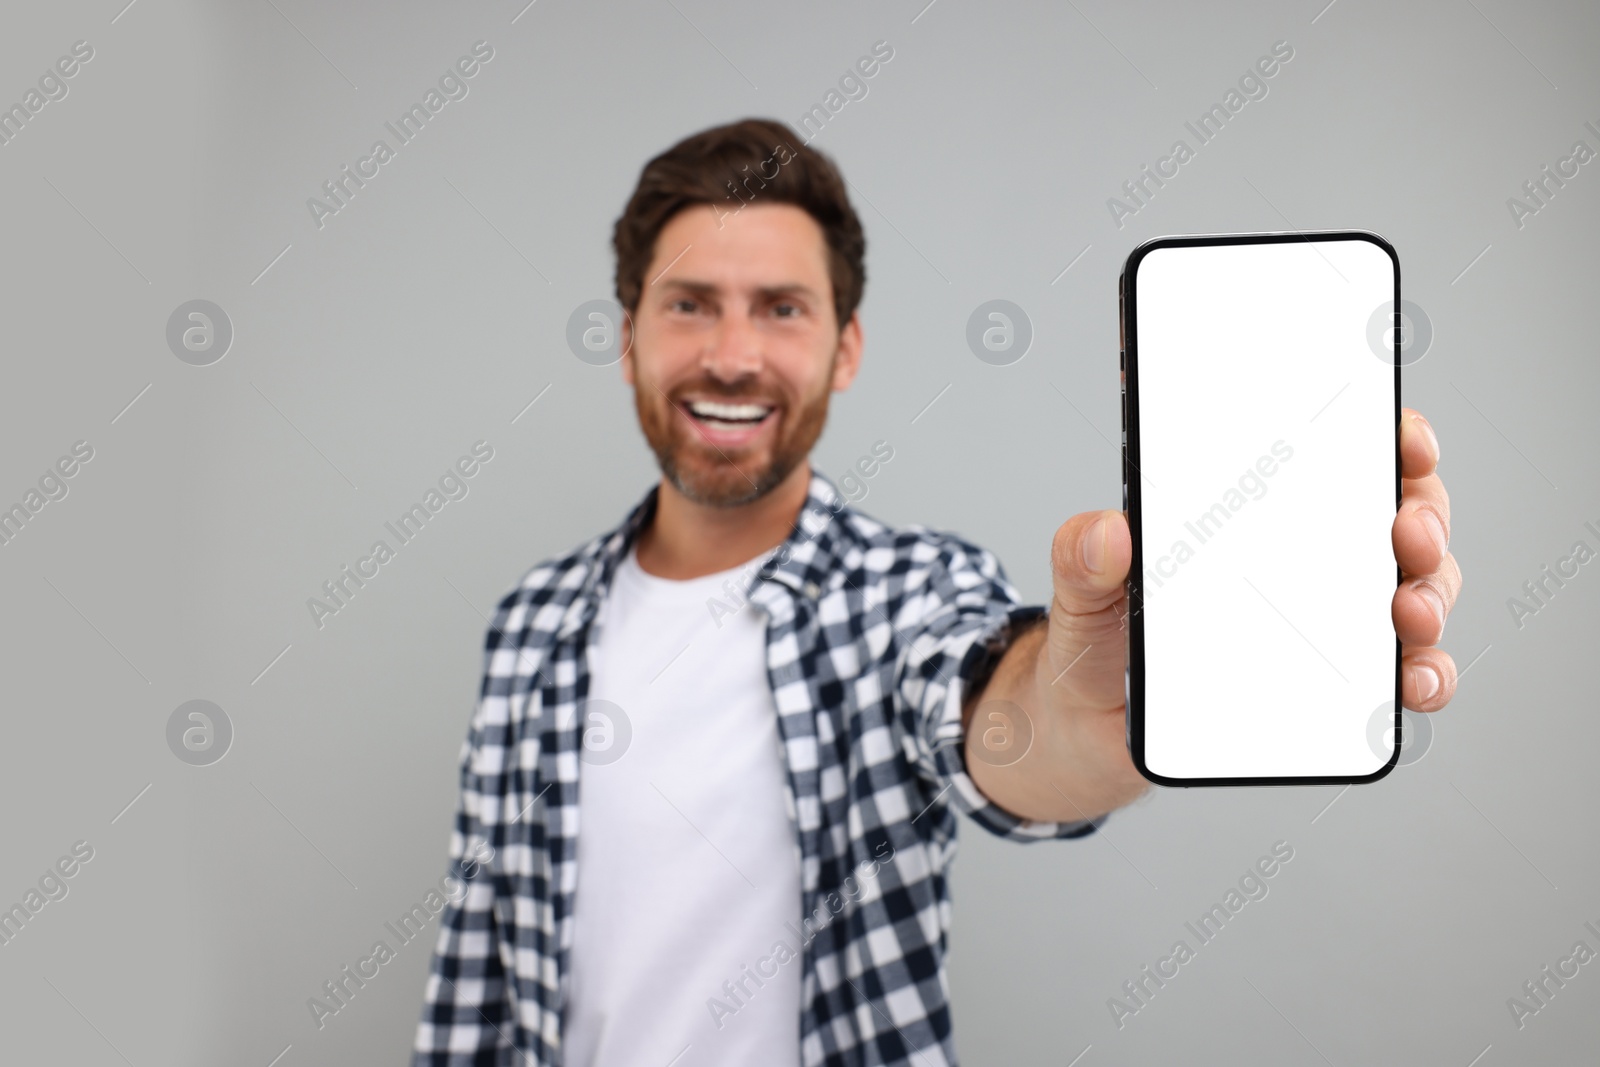
[[[1400,757],[1400,259],[1362,230],[1162,237],[1120,282],[1128,750],[1163,785]]]

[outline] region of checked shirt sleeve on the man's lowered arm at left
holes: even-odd
[[[413,1067],[496,1067],[509,1064],[512,1054],[512,1013],[494,918],[502,886],[491,872],[483,845],[490,835],[478,821],[483,790],[501,776],[475,771],[486,734],[493,749],[504,728],[485,729],[482,707],[461,745],[461,803],[448,854],[454,891],[438,918]]]

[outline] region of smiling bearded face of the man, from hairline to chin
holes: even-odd
[[[803,210],[696,205],[656,238],[622,346],[661,472],[698,504],[736,507],[816,445],[829,394],[861,363],[861,322],[838,328],[827,245]]]

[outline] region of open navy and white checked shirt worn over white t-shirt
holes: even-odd
[[[619,528],[528,571],[488,630],[450,837],[466,894],[440,917],[418,1067],[562,1064],[579,710],[595,614],[656,494]],[[990,552],[918,525],[891,530],[814,472],[789,539],[746,595],[766,614],[802,857],[800,1059],[954,1065],[944,953],[955,811],[1022,841],[1104,822],[1018,819],[966,774],[962,693],[1045,608],[1018,603]]]

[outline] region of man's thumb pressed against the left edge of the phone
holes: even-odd
[[[1088,707],[1122,707],[1126,665],[1128,565],[1133,536],[1118,510],[1083,512],[1061,525],[1050,552],[1050,681]]]

